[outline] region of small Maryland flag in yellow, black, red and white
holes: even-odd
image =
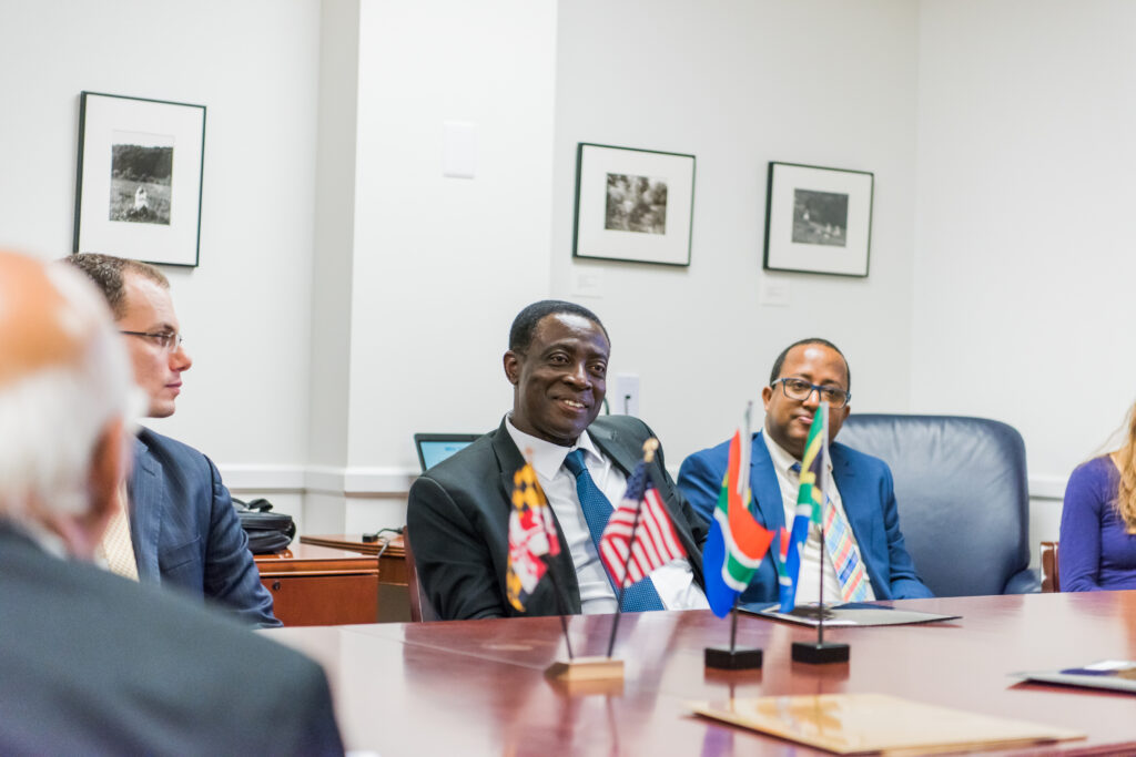
[[[525,612],[525,603],[536,590],[548,565],[541,557],[560,554],[552,513],[536,471],[528,463],[512,477],[512,514],[509,515],[509,570],[506,590],[509,603]]]

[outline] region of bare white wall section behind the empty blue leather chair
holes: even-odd
[[[920,5],[912,409],[1017,427],[1049,497],[1136,398],[1134,27],[1124,1]]]

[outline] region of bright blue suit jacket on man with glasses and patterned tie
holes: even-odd
[[[930,597],[932,592],[916,574],[914,563],[903,544],[900,514],[895,506],[892,471],[878,457],[857,452],[843,444],[829,446],[833,460],[833,479],[841,493],[844,513],[860,547],[871,590],[877,599],[911,599]],[[717,447],[696,452],[683,461],[678,470],[678,488],[708,521],[718,506],[721,480],[729,459],[729,440]],[[765,435],[753,435],[750,454],[750,489],[753,493],[751,511],[767,529],[785,527],[785,506],[782,501],[777,472],[774,470]],[[777,572],[769,560],[753,577],[742,602],[777,602]]]

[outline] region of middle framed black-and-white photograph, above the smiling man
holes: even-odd
[[[582,142],[573,256],[691,264],[694,155]]]

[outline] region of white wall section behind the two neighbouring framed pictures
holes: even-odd
[[[728,436],[780,350],[824,336],[852,365],[853,407],[908,409],[918,6],[905,0],[560,3],[552,288],[612,336],[610,372],[642,377],[668,464]],[[691,267],[575,262],[577,142],[696,155]],[[875,173],[867,279],[765,274],[769,161]],[[763,277],[788,306],[763,306]],[[609,387],[610,388],[610,387]]]

